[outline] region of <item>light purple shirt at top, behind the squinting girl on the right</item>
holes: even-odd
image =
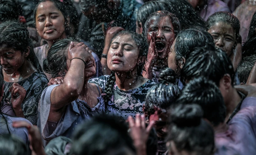
[[[215,12],[227,11],[230,12],[228,5],[221,0],[208,0],[208,4],[200,12],[200,16],[207,21],[208,17]]]

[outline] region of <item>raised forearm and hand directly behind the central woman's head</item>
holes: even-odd
[[[111,71],[108,68],[107,65],[107,57],[108,57],[108,51],[109,51],[109,46],[110,46],[110,41],[112,40],[112,38],[119,32],[119,31],[123,31],[124,29],[122,27],[111,27],[108,31],[107,34],[105,36],[105,40],[104,40],[104,49],[103,52],[101,54],[101,60],[100,63],[102,65],[102,71],[103,71],[103,75],[110,75]]]

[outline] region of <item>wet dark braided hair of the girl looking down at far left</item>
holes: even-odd
[[[29,37],[29,31],[25,25],[18,21],[5,21],[0,24],[0,45],[6,44],[7,47],[15,50],[28,52],[27,47],[30,48],[28,59],[38,72],[43,72],[39,61],[34,53],[33,42]]]

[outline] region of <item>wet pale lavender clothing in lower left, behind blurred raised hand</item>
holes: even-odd
[[[0,134],[9,134],[5,120],[7,120],[8,129],[9,129],[10,133],[12,135],[16,136],[17,138],[21,139],[29,148],[29,139],[28,139],[27,129],[25,127],[14,128],[14,127],[12,127],[12,122],[25,121],[29,124],[31,124],[31,123],[28,120],[26,120],[25,118],[11,117],[9,115],[0,114]]]

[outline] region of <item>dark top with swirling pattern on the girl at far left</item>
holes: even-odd
[[[11,104],[11,92],[9,92],[9,88],[13,83],[14,82],[3,82],[5,93],[3,101],[6,101],[9,104]],[[25,118],[33,125],[36,125],[38,104],[43,90],[47,87],[47,78],[43,73],[34,72],[27,79],[15,83],[18,83],[27,91],[21,104],[21,108]]]

